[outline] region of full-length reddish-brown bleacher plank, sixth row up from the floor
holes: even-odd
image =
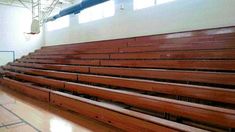
[[[49,52],[50,53],[50,52]],[[110,56],[110,57],[109,57]],[[197,51],[154,51],[136,53],[109,53],[109,54],[30,54],[25,59],[235,59],[234,49],[197,50]]]

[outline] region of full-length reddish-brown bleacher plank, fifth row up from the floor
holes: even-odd
[[[87,66],[115,66],[134,68],[235,70],[235,60],[79,60],[79,59],[21,59],[18,62],[40,64],[70,64]]]

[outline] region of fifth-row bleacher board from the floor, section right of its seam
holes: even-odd
[[[234,60],[101,60],[102,66],[235,70]]]

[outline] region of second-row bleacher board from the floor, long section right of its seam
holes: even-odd
[[[106,88],[76,83],[65,83],[65,89],[92,96],[97,96],[104,99],[123,102],[125,104],[152,111],[167,112],[198,121],[217,124],[220,126],[235,126],[234,110],[192,104],[188,102],[176,101],[160,97],[146,96],[120,90],[109,90]]]

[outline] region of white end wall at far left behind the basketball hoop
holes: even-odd
[[[44,44],[42,33],[28,38],[31,11],[20,7],[0,5],[0,51],[15,51],[16,58],[26,55]],[[0,65],[12,61],[12,56],[0,52]]]

